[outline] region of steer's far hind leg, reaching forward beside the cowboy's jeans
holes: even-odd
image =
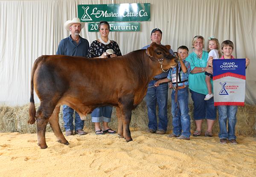
[[[61,128],[59,125],[59,115],[60,112],[60,106],[55,107],[54,111],[52,112],[51,117],[49,118],[49,124],[52,127],[52,131],[54,132],[54,135],[57,137],[57,141],[62,144],[68,145],[68,141],[64,137],[63,133],[61,132]]]

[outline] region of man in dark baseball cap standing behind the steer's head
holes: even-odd
[[[151,31],[151,42],[161,44],[162,31],[159,28],[154,28]],[[150,45],[146,45],[142,49],[147,49]],[[169,53],[173,55],[172,49]],[[167,118],[167,101],[168,101],[168,83],[163,83],[159,87],[154,87],[154,84],[167,77],[169,72],[161,73],[149,82],[148,90],[146,94],[146,104],[148,108],[148,130],[149,133],[165,134],[167,130],[168,118]],[[158,124],[157,124],[157,111],[158,106]]]

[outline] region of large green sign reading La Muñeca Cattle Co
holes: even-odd
[[[82,22],[149,21],[150,3],[78,5]]]

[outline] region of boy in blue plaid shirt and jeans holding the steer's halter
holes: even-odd
[[[161,79],[155,83],[155,87],[164,82],[170,82],[169,88],[172,88],[172,126],[173,132],[168,135],[169,138],[190,139],[190,116],[189,116],[189,82],[188,77],[191,71],[189,62],[185,59],[188,56],[189,49],[182,45],[178,48],[180,62],[178,63],[178,76],[176,76],[176,67],[169,71],[167,78]],[[176,87],[176,82],[178,86]],[[177,90],[177,102],[175,102],[175,92]],[[178,107],[179,105],[179,107]]]

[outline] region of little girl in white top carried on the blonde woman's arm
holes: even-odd
[[[212,59],[219,59],[219,56],[221,55],[220,44],[218,39],[216,39],[214,36],[208,38],[208,52],[207,67],[212,67]],[[209,100],[213,97],[211,84],[212,74],[205,72],[205,75],[207,75],[205,77],[205,82],[207,85],[208,94],[205,96],[204,100]]]

